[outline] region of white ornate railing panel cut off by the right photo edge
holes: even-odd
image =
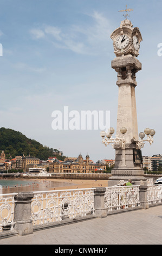
[[[162,202],[162,185],[148,185],[147,188],[148,204],[155,204]]]

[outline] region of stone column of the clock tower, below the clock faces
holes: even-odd
[[[115,166],[109,178],[109,186],[117,184],[120,180],[128,179],[132,179],[134,184],[138,185],[140,180],[146,180],[144,170],[141,168],[141,160],[134,160],[138,141],[135,74],[141,70],[141,63],[129,54],[112,60],[112,68],[118,72],[116,84],[119,87],[116,135],[120,138],[123,136],[120,132],[121,127],[126,127],[127,132],[124,135],[125,149],[122,149],[120,144],[114,145]]]

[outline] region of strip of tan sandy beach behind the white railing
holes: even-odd
[[[15,187],[3,188],[3,194],[22,192],[22,191],[25,192],[25,191],[69,190],[69,189],[100,187],[100,186],[107,187],[108,180],[29,179],[29,184],[30,185],[27,185],[27,186],[15,186]]]

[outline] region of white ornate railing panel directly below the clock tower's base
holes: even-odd
[[[106,187],[105,208],[108,212],[139,205],[139,186]]]

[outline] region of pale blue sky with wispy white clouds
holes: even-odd
[[[69,112],[110,111],[116,130],[118,86],[110,35],[125,19],[118,10],[126,4],[133,9],[128,19],[143,39],[135,88],[138,131],[156,132],[142,155],[162,154],[161,0],[0,0],[0,127],[66,156],[114,159],[115,150],[102,144],[100,129],[54,130],[51,124],[52,113],[68,106]]]

